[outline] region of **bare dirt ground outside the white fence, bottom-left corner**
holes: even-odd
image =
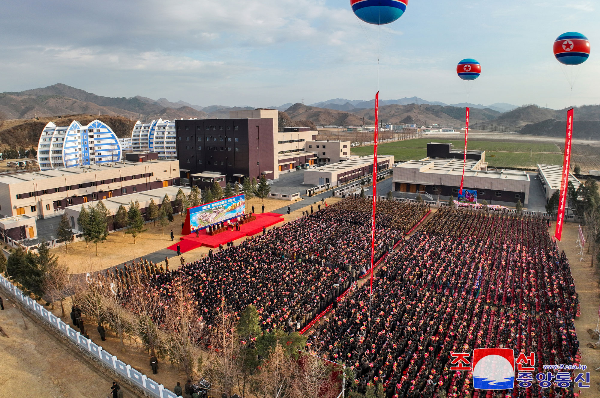
[[[0,396],[106,398],[111,381],[65,350],[43,328],[25,317],[2,294],[0,326]]]

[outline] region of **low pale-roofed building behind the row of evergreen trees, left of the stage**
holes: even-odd
[[[117,226],[115,224],[115,214],[119,210],[119,206],[125,206],[125,209],[129,209],[129,204],[133,201],[134,203],[137,201],[140,204],[140,212],[142,213],[143,218],[146,221],[149,221],[148,216],[146,215],[146,210],[148,206],[150,206],[151,200],[154,200],[154,203],[160,208],[160,204],[163,202],[164,195],[169,195],[169,199],[171,200],[171,206],[173,207],[173,211],[178,213],[181,212],[181,209],[176,207],[175,203],[175,195],[181,189],[185,195],[189,195],[191,189],[185,186],[166,186],[164,188],[150,189],[149,191],[144,192],[136,192],[133,194],[122,195],[119,197],[112,197],[103,200],[102,203],[109,211],[110,219],[108,222],[108,229],[110,231],[117,230]],[[96,206],[98,201],[88,202],[86,206]],[[67,213],[68,219],[71,221],[71,228],[76,231],[81,231],[82,228],[77,224],[77,218],[79,218],[79,213],[81,211],[82,205],[76,206],[68,206],[65,209]]]

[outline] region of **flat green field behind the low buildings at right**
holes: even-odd
[[[377,151],[382,155],[394,155],[395,161],[418,160],[427,156],[427,143],[431,138],[395,141],[379,144]],[[434,140],[449,142],[454,149],[464,147],[463,140]],[[485,161],[490,167],[535,167],[538,163],[562,164],[562,153],[556,144],[506,142],[506,141],[469,141],[467,149],[485,150]],[[352,149],[352,155],[372,155],[373,146]]]

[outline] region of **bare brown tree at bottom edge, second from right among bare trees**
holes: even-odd
[[[268,398],[290,398],[297,366],[281,345],[275,345],[256,376],[257,393]]]

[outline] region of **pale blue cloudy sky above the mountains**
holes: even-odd
[[[349,0],[3,0],[0,92],[64,83],[107,97],[268,107],[331,98],[421,97],[564,108],[597,104],[600,4],[410,0],[368,25]],[[561,68],[563,32],[590,58]],[[377,59],[379,58],[379,67]],[[456,64],[482,65],[470,94]],[[565,73],[577,76],[574,87]]]

